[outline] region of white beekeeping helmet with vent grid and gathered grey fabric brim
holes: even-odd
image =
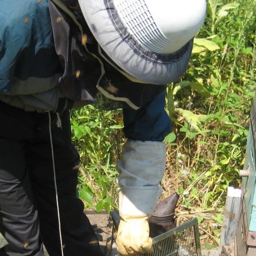
[[[131,76],[168,84],[186,70],[206,0],[79,0],[101,48]]]

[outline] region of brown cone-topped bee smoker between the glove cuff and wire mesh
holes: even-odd
[[[157,204],[152,216],[148,219],[151,238],[176,227],[175,207],[179,197],[177,193],[174,193]]]

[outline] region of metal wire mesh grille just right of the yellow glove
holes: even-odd
[[[197,218],[153,239],[154,253],[140,256],[201,256]]]

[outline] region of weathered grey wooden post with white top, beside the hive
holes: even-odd
[[[241,189],[228,187],[218,255],[222,255],[222,248],[229,246],[235,239],[239,221],[240,204]]]

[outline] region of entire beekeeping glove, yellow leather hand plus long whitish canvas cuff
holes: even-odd
[[[117,250],[123,256],[150,253],[148,218],[161,194],[159,186],[166,166],[163,142],[128,140],[119,171],[120,223],[116,236]]]

